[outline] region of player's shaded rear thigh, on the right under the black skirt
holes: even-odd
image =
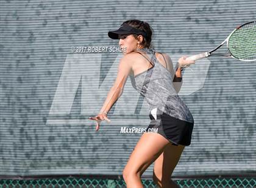
[[[170,180],[172,172],[179,162],[180,156],[185,146],[174,146],[169,143],[163,153],[155,160],[154,164],[154,178],[160,181]]]

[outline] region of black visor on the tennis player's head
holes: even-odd
[[[122,24],[118,28],[118,30],[108,32],[108,36],[112,39],[119,39],[118,35],[128,35],[128,34],[137,34],[137,35],[146,36],[146,32],[144,32],[143,30],[134,28],[128,24]]]

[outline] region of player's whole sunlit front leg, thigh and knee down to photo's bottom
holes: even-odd
[[[143,133],[123,170],[127,188],[143,188],[141,175],[160,156],[168,143],[158,133]]]

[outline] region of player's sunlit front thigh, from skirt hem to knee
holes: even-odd
[[[158,158],[168,139],[158,133],[143,133],[133,150],[124,170],[129,173],[142,173]]]

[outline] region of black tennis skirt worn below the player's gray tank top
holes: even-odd
[[[157,133],[168,139],[172,145],[190,146],[194,123],[174,118],[162,111],[157,114],[157,119],[151,113],[149,117],[151,122],[146,132],[149,132],[149,128],[158,128]]]

